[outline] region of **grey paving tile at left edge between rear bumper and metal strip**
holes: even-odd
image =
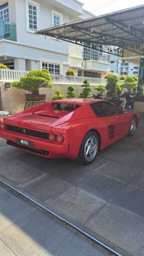
[[[22,164],[19,160],[15,160],[14,157],[8,157],[0,154],[0,179],[4,180],[10,185],[18,185],[31,180],[43,172],[29,166],[27,164]]]

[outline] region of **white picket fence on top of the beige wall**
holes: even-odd
[[[0,81],[19,81],[21,76],[27,76],[29,71],[23,70],[6,70],[0,69]],[[51,74],[53,84],[83,84],[84,80],[88,80],[89,84],[106,84],[106,79],[86,76],[66,76]],[[123,80],[119,81],[120,84]]]

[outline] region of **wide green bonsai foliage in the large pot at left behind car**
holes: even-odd
[[[40,87],[52,88],[52,79],[49,75],[49,71],[43,70],[32,70],[26,77],[20,77],[20,81],[14,81],[12,87],[28,90],[32,94],[39,94]]]

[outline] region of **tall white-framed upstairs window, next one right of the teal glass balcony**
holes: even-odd
[[[28,3],[29,29],[37,30],[37,6]]]

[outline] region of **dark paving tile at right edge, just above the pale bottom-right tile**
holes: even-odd
[[[115,195],[110,202],[144,218],[144,191],[139,188],[128,185]]]

